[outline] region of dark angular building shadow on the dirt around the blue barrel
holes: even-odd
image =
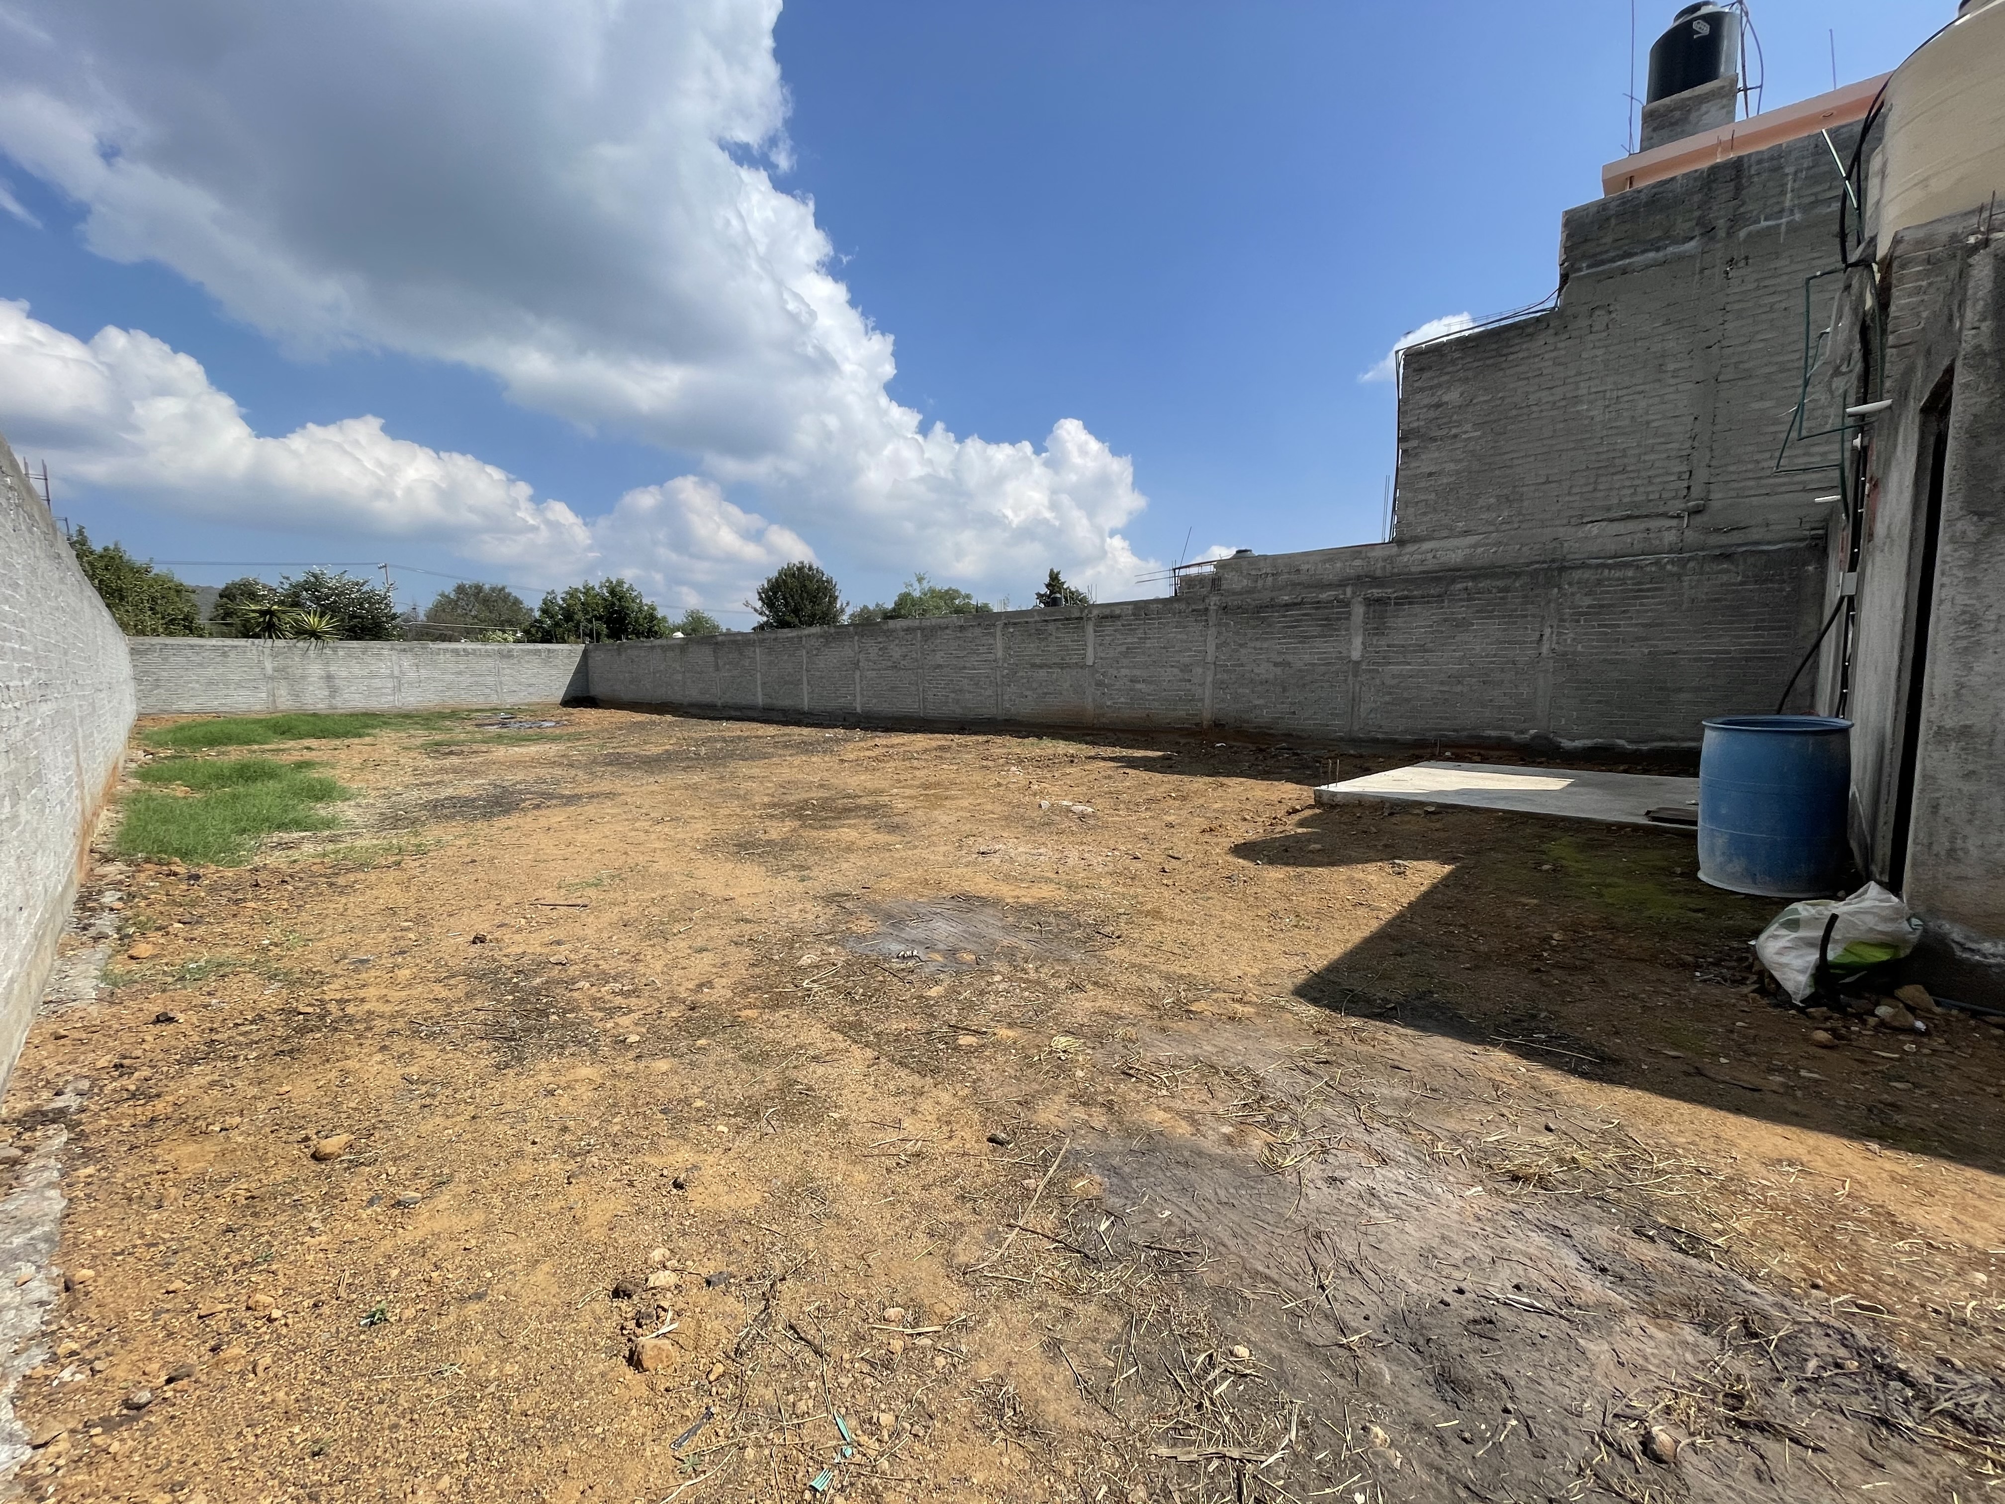
[[[1758,995],[1748,941],[1780,906],[1702,884],[1688,834],[1476,810],[1345,806],[1233,846],[1295,868],[1430,864],[1420,896],[1295,995],[1492,1045],[1592,1081],[2005,1169],[2005,1035],[1804,1019]]]

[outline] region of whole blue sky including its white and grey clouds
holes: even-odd
[[[804,551],[1025,604],[1373,541],[1361,373],[1552,291],[1630,118],[1616,0],[658,10],[0,4],[0,429],[58,511],[712,610]],[[1766,102],[1951,12],[1760,0]]]

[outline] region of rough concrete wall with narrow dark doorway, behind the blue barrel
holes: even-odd
[[[1835,315],[1845,337],[1829,389],[1893,407],[1863,425],[1849,680],[1833,656],[1825,700],[1837,708],[1843,686],[1855,722],[1861,866],[1929,922],[1919,973],[1953,997],[2005,1003],[2005,245],[1973,235],[1975,219],[1903,231],[1879,257],[1879,283],[1857,275]],[[1925,592],[1937,437],[1941,517]],[[1851,533],[1843,521],[1833,531],[1845,553]]]

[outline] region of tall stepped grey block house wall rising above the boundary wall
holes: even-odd
[[[1393,535],[1660,553],[1821,533],[1829,477],[1774,459],[1841,193],[1809,136],[1568,211],[1558,307],[1406,353]]]

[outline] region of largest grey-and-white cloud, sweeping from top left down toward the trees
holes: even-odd
[[[776,0],[0,0],[0,152],[82,207],[98,255],[164,263],[295,353],[453,361],[694,455],[700,477],[608,521],[662,549],[640,566],[664,580],[706,529],[770,531],[706,511],[730,507],[712,481],[872,570],[1002,586],[1059,563],[1131,594],[1145,566],[1121,527],[1145,497],[1083,423],[996,443],[890,399],[890,335],[776,182]],[[535,505],[553,503],[505,507],[525,551],[557,525]]]

